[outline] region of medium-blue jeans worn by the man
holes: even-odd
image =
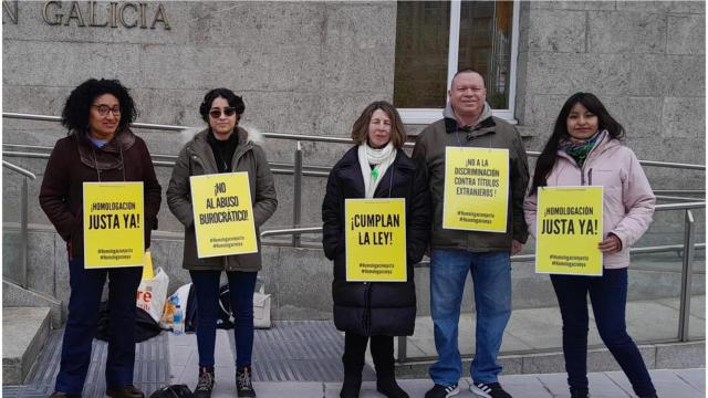
[[[467,273],[472,274],[477,307],[477,343],[470,368],[476,383],[494,383],[501,366],[497,354],[511,316],[511,263],[509,252],[472,253],[433,250],[430,255],[430,313],[438,360],[430,367],[435,384],[459,381],[462,360],[457,346],[460,304]]]

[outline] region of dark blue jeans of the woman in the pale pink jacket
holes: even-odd
[[[627,334],[627,269],[604,270],[603,276],[551,275],[563,317],[563,356],[571,390],[587,389],[587,294],[600,337],[639,397],[656,390],[636,344]]]

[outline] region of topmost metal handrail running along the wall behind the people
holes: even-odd
[[[3,112],[2,117],[25,119],[25,121],[61,122],[61,117],[59,116],[22,114],[22,113],[13,113],[13,112]],[[198,128],[198,127],[160,125],[160,124],[150,124],[150,123],[133,123],[132,126],[135,128],[169,130],[169,132],[183,132],[186,129]],[[277,138],[277,139],[291,139],[291,140],[332,143],[332,144],[353,144],[354,143],[351,138],[345,138],[345,137],[300,135],[300,134],[289,134],[289,133],[262,133],[262,134],[267,138]],[[404,144],[404,146],[408,148],[412,148],[414,145],[415,143]],[[527,155],[530,157],[539,157],[541,153],[535,150],[527,150]],[[639,160],[639,164],[642,164],[643,166],[652,166],[652,167],[680,168],[680,169],[704,170],[704,171],[706,170],[706,165],[681,164],[681,163],[673,163],[673,161],[656,161],[656,160]]]

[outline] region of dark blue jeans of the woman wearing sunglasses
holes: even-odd
[[[221,271],[189,271],[197,297],[197,350],[199,366],[214,366],[219,315]],[[251,366],[253,352],[253,291],[258,272],[227,272],[235,317],[236,367]]]

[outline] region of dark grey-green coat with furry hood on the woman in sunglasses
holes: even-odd
[[[261,241],[259,227],[268,220],[275,208],[275,185],[263,149],[250,139],[249,133],[238,127],[239,145],[231,161],[232,171],[247,171],[253,201],[253,221],[258,238],[258,253],[197,258],[194,211],[191,208],[189,177],[217,174],[214,151],[207,142],[209,129],[197,134],[179,153],[173,177],[167,188],[167,205],[175,217],[185,226],[185,254],[183,266],[187,270],[220,270],[257,272],[261,269]]]

